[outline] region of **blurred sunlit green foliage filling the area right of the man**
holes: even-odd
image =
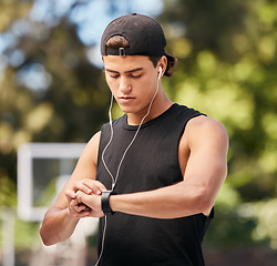
[[[164,86],[175,101],[220,121],[230,139],[228,177],[216,203],[219,217],[207,241],[276,248],[275,232],[264,226],[269,213],[264,219],[255,213],[242,217],[239,209],[245,202],[266,208],[277,193],[277,3],[165,4],[161,20],[171,37],[167,50],[179,60],[176,75]],[[274,207],[275,200],[269,202]],[[225,218],[226,212],[233,217]]]

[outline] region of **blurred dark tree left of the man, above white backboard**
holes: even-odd
[[[14,183],[20,144],[86,142],[106,120],[110,98],[75,25],[66,17],[55,25],[32,21],[31,7],[32,1],[0,3],[7,45],[0,55],[0,178]]]

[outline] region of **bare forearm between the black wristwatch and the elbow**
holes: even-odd
[[[111,195],[110,205],[114,212],[154,218],[177,218],[208,213],[214,198],[208,198],[207,195],[207,187],[181,182],[150,192]]]

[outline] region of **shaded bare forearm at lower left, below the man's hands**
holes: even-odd
[[[47,246],[68,239],[80,218],[70,214],[68,208],[50,208],[40,228],[40,235]]]

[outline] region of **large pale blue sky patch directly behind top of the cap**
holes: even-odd
[[[30,12],[33,21],[45,21],[50,25],[68,14],[78,25],[78,34],[86,45],[98,43],[105,25],[114,18],[125,13],[137,12],[152,17],[163,11],[162,0],[84,0],[75,8],[74,0],[35,0]]]

